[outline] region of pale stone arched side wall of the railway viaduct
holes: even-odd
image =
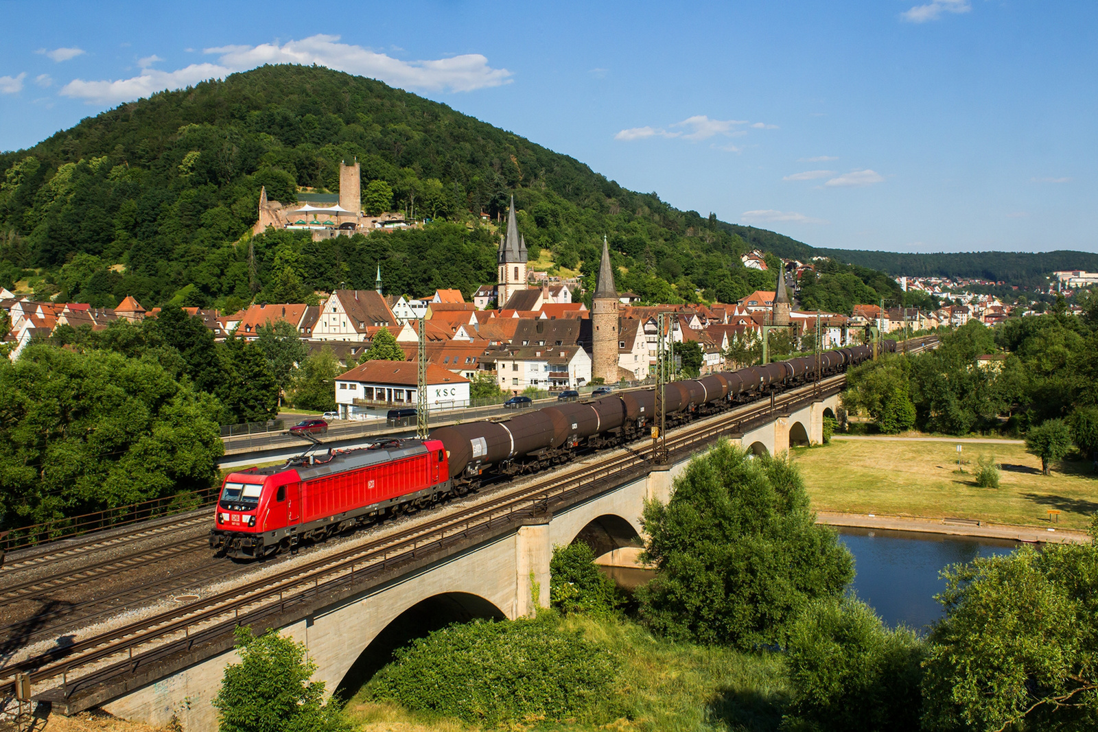
[[[824,416],[834,414],[838,395],[777,414],[732,442],[755,453],[820,443]],[[586,541],[597,554],[637,543],[646,499],[668,500],[688,457],[535,521],[512,527],[449,556],[412,568],[382,584],[280,623],[281,632],[305,644],[317,664],[314,679],[329,691],[369,678],[392,649],[455,620],[515,619],[549,605],[549,561],[556,544]],[[258,631],[258,629],[257,629]],[[163,725],[172,718],[184,730],[216,728],[211,700],[228,663],[229,650],[177,667],[137,688],[101,696],[93,703],[125,719]],[[91,703],[85,707],[92,706]],[[69,711],[78,711],[69,708]]]

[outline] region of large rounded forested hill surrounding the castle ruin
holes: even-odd
[[[437,223],[249,240],[261,185],[283,203],[299,187],[335,191],[340,160],[356,158],[363,191],[384,181],[393,210],[414,202]],[[301,66],[157,93],[0,155],[0,284],[23,279],[38,296],[96,305],[132,294],[146,307],[228,309],[340,283],[372,289],[380,263],[386,292],[469,295],[495,280],[496,230],[477,214],[494,217],[512,193],[531,267],[582,264],[590,277],[605,234],[619,290],[649,302],[728,302],[773,286],[773,273],[741,266],[751,246],[715,217],[628,191],[445,104]],[[537,261],[542,249],[552,261]]]

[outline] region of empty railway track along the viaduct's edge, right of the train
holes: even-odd
[[[669,435],[671,452],[681,453],[698,442],[716,439],[720,433],[737,431],[774,410],[814,397],[819,391],[837,391],[843,376],[792,390],[774,404],[754,403],[733,413],[706,418]],[[345,550],[318,556],[285,570],[273,572],[256,582],[197,599],[178,608],[156,612],[133,623],[79,639],[66,647],[0,668],[4,680],[15,672],[29,672],[32,682],[41,684],[60,677],[61,695],[69,696],[80,688],[105,680],[115,674],[132,673],[173,652],[191,647],[203,639],[229,632],[237,623],[255,622],[262,617],[284,611],[288,604],[301,603],[337,585],[354,583],[376,572],[391,567],[393,562],[415,556],[428,549],[438,549],[456,540],[468,539],[478,530],[490,530],[500,521],[513,522],[516,514],[546,513],[550,504],[568,492],[591,486],[598,481],[649,463],[648,450],[626,448],[620,454],[593,465],[573,465],[554,471],[542,480],[500,491],[486,499],[438,518],[390,531],[383,537],[358,543]],[[121,656],[121,657],[120,657]],[[70,674],[79,678],[69,679]]]

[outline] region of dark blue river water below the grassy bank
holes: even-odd
[[[851,589],[886,623],[919,630],[942,615],[934,595],[945,588],[938,573],[949,564],[977,556],[1009,554],[1013,541],[937,533],[840,528],[839,539],[854,554],[858,574]]]

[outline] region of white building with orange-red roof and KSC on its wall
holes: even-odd
[[[419,365],[415,361],[367,361],[336,376],[340,419],[383,418],[389,409],[415,407]],[[469,406],[469,380],[434,363],[427,364],[427,408]]]

